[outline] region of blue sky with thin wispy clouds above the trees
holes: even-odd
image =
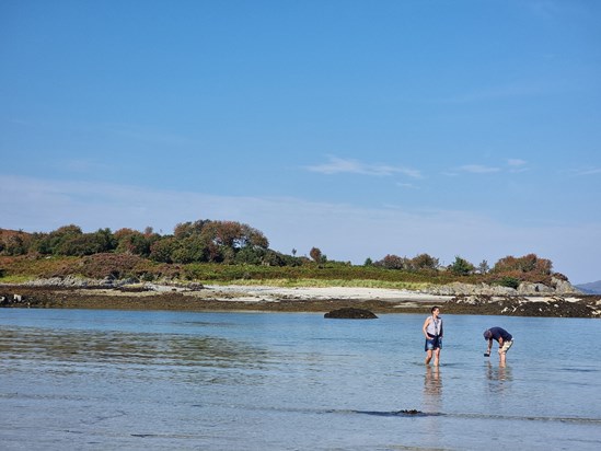
[[[235,220],[601,279],[601,2],[0,0],[0,227]]]

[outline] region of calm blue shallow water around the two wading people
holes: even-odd
[[[442,316],[3,309],[0,448],[601,449],[598,320]]]

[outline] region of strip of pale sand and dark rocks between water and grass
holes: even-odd
[[[495,289],[498,287],[495,287]],[[601,317],[601,296],[535,287],[535,291],[490,291],[490,287],[437,287],[429,292],[382,288],[203,286],[138,284],[128,280],[37,280],[0,285],[2,308],[117,309],[176,311],[319,312],[366,309],[374,313]]]

